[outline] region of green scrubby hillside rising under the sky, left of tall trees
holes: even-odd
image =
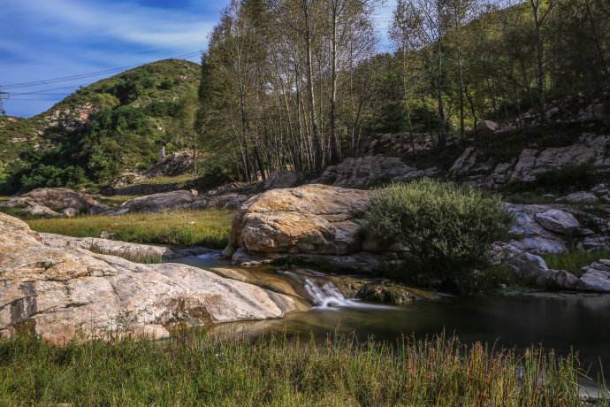
[[[199,65],[168,59],[80,88],[31,119],[0,118],[0,181],[13,174],[7,190],[103,183],[148,167],[161,145],[180,142],[176,122],[198,85]],[[57,163],[64,173],[49,168]]]

